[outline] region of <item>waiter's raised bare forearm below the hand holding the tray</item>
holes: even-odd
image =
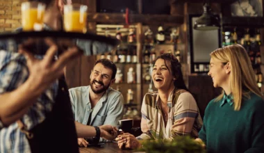
[[[0,120],[5,126],[22,118],[40,93],[32,88],[32,81],[26,81],[16,90],[0,95]]]

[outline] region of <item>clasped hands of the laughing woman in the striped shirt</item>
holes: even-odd
[[[119,135],[115,138],[115,140],[117,140],[117,144],[120,149],[123,149],[124,147],[135,149],[141,146],[140,141],[129,133]]]

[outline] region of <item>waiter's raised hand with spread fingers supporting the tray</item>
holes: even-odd
[[[67,63],[76,58],[76,56],[81,55],[76,47],[72,47],[61,54],[57,61],[54,61],[57,50],[58,47],[56,45],[51,45],[44,58],[40,60],[35,58],[23,45],[19,47],[19,52],[26,57],[30,72],[28,81],[32,83],[31,90],[38,95],[63,75],[63,68]]]

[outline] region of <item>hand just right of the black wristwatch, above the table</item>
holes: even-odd
[[[117,137],[117,128],[111,125],[101,125],[101,138],[106,140],[114,140]]]

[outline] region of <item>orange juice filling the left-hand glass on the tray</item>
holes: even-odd
[[[23,31],[34,31],[34,24],[43,24],[44,10],[30,8],[22,10]]]

